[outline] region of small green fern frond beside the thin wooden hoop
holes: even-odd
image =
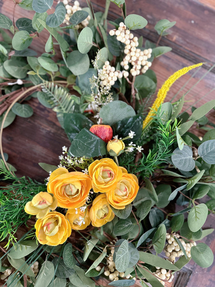
[[[69,94],[67,90],[54,85],[53,82],[44,82],[42,92],[49,96],[49,102],[57,113],[73,113],[74,102],[80,102],[79,97]]]

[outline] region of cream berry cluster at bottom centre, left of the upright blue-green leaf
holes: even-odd
[[[128,274],[125,276],[124,272],[119,272],[116,270],[115,263],[113,261],[114,255],[114,247],[110,247],[110,254],[107,257],[107,267],[105,268],[104,275],[108,276],[110,280],[117,281],[119,277],[129,279],[133,277],[132,275]]]

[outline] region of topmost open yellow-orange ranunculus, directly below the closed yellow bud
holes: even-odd
[[[94,192],[109,191],[122,176],[121,168],[110,158],[95,160],[90,164],[88,171]]]

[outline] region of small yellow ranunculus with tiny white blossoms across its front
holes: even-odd
[[[89,207],[86,207],[85,211],[82,207],[68,209],[65,218],[69,220],[71,228],[75,230],[85,229],[91,223]]]

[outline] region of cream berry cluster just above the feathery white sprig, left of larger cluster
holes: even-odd
[[[106,61],[100,72],[100,86],[113,86],[117,79],[122,77],[128,77],[127,71],[115,71],[114,67],[111,67],[109,61]]]

